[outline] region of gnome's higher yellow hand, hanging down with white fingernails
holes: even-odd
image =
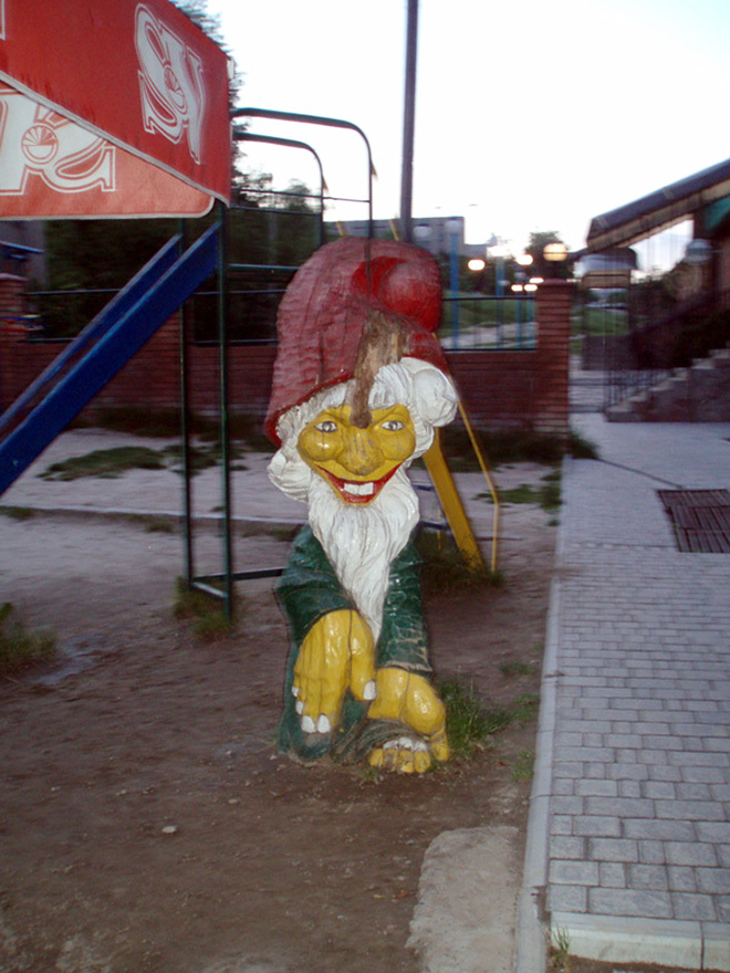
[[[369,628],[350,608],[330,611],[310,629],[294,665],[292,692],[305,733],[330,733],[346,691],[375,698],[375,647]]]

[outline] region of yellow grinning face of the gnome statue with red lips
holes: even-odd
[[[413,454],[414,423],[405,406],[374,409],[366,429],[353,426],[350,416],[347,405],[320,412],[296,448],[345,503],[369,503]]]

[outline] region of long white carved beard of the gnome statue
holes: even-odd
[[[416,491],[400,468],[371,503],[348,504],[312,473],[307,499],[314,535],[377,641],[390,563],[418,523]]]

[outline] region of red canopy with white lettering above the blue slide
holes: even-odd
[[[0,216],[228,201],[228,59],[168,0],[0,0]]]

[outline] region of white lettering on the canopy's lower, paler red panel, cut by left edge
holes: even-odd
[[[56,192],[113,192],[114,154],[93,132],[0,87],[0,195],[22,196],[31,175]]]

